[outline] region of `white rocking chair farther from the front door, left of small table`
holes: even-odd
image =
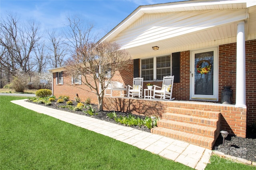
[[[139,98],[142,98],[142,88],[143,88],[143,78],[140,77],[136,77],[133,78],[133,85],[130,86],[128,85],[128,97],[130,97],[130,95],[132,96],[132,98],[134,96],[138,96]]]

